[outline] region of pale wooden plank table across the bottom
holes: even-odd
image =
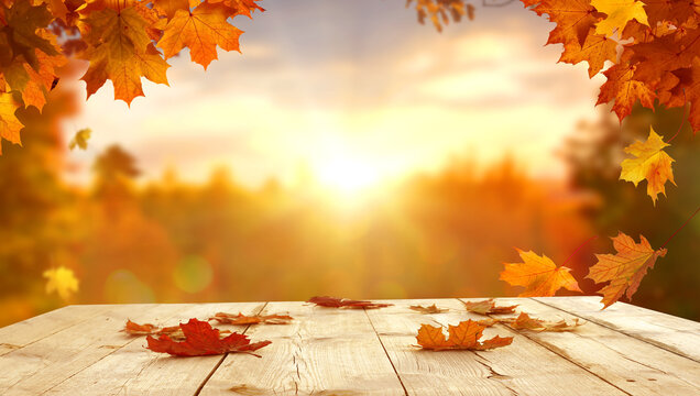
[[[478,315],[459,299],[390,300],[374,310],[304,302],[69,306],[0,329],[2,395],[700,395],[700,323],[599,297],[502,298],[547,319],[583,318],[573,332],[514,331],[510,346],[423,351],[420,323]],[[424,315],[411,305],[437,304]],[[173,358],[120,330],[127,318],[175,324],[217,311],[289,312],[292,324],[238,328],[249,354]],[[223,326],[222,326],[223,327]],[[232,328],[232,327],[231,327]]]

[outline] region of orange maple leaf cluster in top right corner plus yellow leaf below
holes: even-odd
[[[688,121],[700,130],[700,1],[667,0],[521,0],[556,23],[547,44],[562,44],[559,62],[588,62],[589,77],[602,74],[597,105],[613,103],[622,120],[638,101],[653,109],[690,103]],[[650,131],[646,142],[625,148],[636,158],[622,164],[621,179],[636,186],[647,180],[656,204],[674,182],[668,142]]]

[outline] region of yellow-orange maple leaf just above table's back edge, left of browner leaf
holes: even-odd
[[[525,286],[525,292],[518,297],[554,296],[561,287],[571,292],[581,292],[579,284],[569,274],[571,268],[557,267],[546,255],[540,257],[532,251],[524,252],[517,249],[517,252],[523,263],[504,263],[505,271],[501,273],[501,280],[513,286]]]

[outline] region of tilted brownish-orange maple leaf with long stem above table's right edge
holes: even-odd
[[[595,263],[586,276],[595,283],[610,282],[599,290],[603,294],[603,309],[617,301],[623,294],[632,299],[648,268],[653,268],[656,258],[666,255],[666,249],[654,250],[643,235],[639,243],[624,233],[612,238],[617,254],[597,254]]]

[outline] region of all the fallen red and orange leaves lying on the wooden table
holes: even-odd
[[[392,304],[373,302],[365,300],[352,300],[336,297],[313,297],[307,302],[313,302],[326,308],[350,308],[350,309],[378,309],[392,306]],[[483,316],[514,314],[517,305],[496,306],[493,299],[480,301],[466,301],[464,308],[468,312]],[[448,309],[438,308],[435,304],[428,307],[411,306],[409,309],[420,314],[442,314]],[[288,315],[254,315],[218,312],[208,321],[196,318],[189,319],[187,323],[179,323],[173,327],[157,327],[151,323],[139,324],[127,320],[123,331],[131,336],[146,336],[147,349],[154,352],[168,353],[175,356],[203,356],[223,353],[248,353],[260,358],[254,351],[271,344],[271,341],[251,342],[243,333],[231,332],[212,328],[209,321],[234,326],[250,324],[288,324],[294,320]],[[495,336],[488,340],[481,340],[485,328],[503,323],[516,330],[529,331],[571,331],[583,324],[578,319],[572,323],[566,320],[545,321],[533,318],[526,312],[521,312],[516,318],[486,318],[482,320],[471,320],[459,322],[457,326],[449,326],[448,337],[445,337],[442,327],[420,324],[416,341],[418,346],[433,351],[447,350],[473,350],[483,351],[500,346],[510,345],[513,337]],[[154,338],[157,336],[158,338]]]

